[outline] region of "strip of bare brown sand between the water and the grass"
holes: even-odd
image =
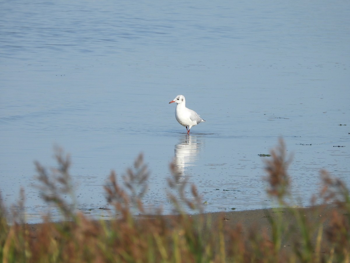
[[[294,209],[294,208],[293,208]],[[292,243],[295,241],[295,238],[300,238],[299,234],[299,224],[296,221],[295,211],[298,211],[299,215],[303,220],[308,222],[310,227],[313,225],[318,225],[318,223],[323,224],[323,231],[326,231],[330,224],[330,219],[334,211],[337,211],[339,215],[350,216],[346,214],[341,208],[336,206],[317,206],[310,208],[278,208],[278,209],[258,209],[258,210],[247,210],[247,211],[229,211],[229,212],[218,212],[218,213],[205,213],[198,215],[190,215],[189,217],[194,220],[196,223],[207,222],[209,227],[203,229],[204,231],[210,231],[215,234],[218,232],[220,226],[223,226],[224,229],[236,229],[239,225],[240,232],[244,237],[248,237],[252,232],[254,233],[266,233],[271,237],[272,233],[272,224],[271,221],[281,220],[283,225],[286,227],[285,231],[288,232],[288,237],[283,238],[282,246],[283,247],[292,247]],[[139,223],[142,223],[142,220],[145,218],[152,219],[157,218],[158,216],[137,216],[136,220]],[[162,215],[161,217],[165,218],[169,225],[173,220],[177,220],[179,216],[176,215]],[[204,219],[204,220],[203,220]],[[111,220],[105,221],[107,228],[111,227]],[[38,228],[41,227],[41,224],[29,224],[30,229],[35,233]],[[293,231],[288,231],[290,229]],[[292,233],[292,234],[291,234]],[[293,236],[294,235],[294,236]]]

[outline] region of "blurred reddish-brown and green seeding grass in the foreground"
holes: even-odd
[[[116,219],[94,221],[76,211],[69,174],[69,156],[56,151],[57,168],[47,169],[36,163],[37,188],[42,198],[61,210],[62,221],[25,223],[19,211],[13,210],[11,222],[0,204],[1,262],[349,262],[350,200],[349,191],[338,179],[321,171],[322,205],[310,208],[311,215],[291,207],[290,176],[283,141],[272,150],[266,161],[268,194],[280,208],[266,212],[268,227],[244,227],[221,216],[203,214],[202,201],[194,185],[181,182],[174,163],[168,196],[176,215],[135,217],[134,209],[144,213],[142,196],[148,178],[147,167],[140,155],[133,169],[118,180],[112,172],[105,186],[108,202],[116,210]],[[185,195],[190,187],[191,196]],[[23,191],[21,192],[24,195]],[[63,195],[69,194],[67,202]],[[23,199],[23,198],[22,198]],[[329,217],[322,211],[334,204]],[[197,215],[184,213],[184,206]],[[282,209],[283,208],[283,209]],[[232,212],[235,213],[235,212]],[[286,214],[288,216],[286,216]],[[286,245],[287,244],[287,245]]]

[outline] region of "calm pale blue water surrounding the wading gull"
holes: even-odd
[[[320,169],[349,187],[349,13],[348,1],[1,1],[3,202],[23,187],[27,220],[40,220],[51,208],[33,162],[55,166],[59,146],[78,207],[96,216],[110,171],[139,153],[145,205],[163,213],[172,161],[205,211],[270,207],[258,154],[281,136],[298,205]],[[206,120],[190,136],[168,104],[179,94]]]

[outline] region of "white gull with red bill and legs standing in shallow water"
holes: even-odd
[[[176,120],[186,127],[187,134],[190,134],[190,129],[198,123],[204,121],[194,110],[186,108],[186,100],[183,95],[177,95],[170,103],[176,103],[175,117]],[[188,129],[187,129],[188,127]]]

